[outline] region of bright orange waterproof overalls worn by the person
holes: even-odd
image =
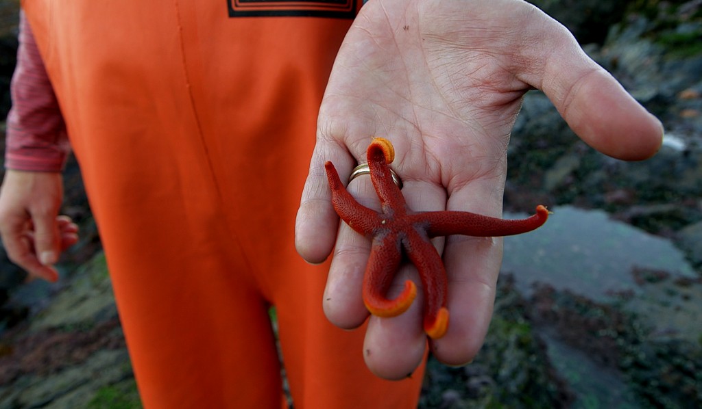
[[[325,319],[293,226],[360,1],[25,0],[98,221],[146,408],[409,408]],[[289,5],[289,6],[287,6]],[[303,16],[305,15],[305,16]]]

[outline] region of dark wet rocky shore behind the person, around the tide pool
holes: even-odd
[[[700,407],[702,1],[534,3],[569,25],[588,53],[661,118],[666,137],[651,160],[619,162],[579,141],[543,94],[529,92],[512,133],[505,209],[604,209],[672,240],[696,277],[634,267],[625,272],[633,289],[595,300],[548,283],[522,291],[512,268],[498,284],[481,353],[463,368],[430,359],[420,407]],[[4,47],[13,48],[16,7],[0,1],[0,97],[4,67],[14,64]],[[62,261],[58,285],[23,285],[23,273],[0,250],[0,409],[138,408],[74,162],[66,196],[64,211],[79,222],[82,238]]]

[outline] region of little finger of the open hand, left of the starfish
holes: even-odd
[[[322,263],[336,240],[338,216],[331,206],[331,190],[324,171],[327,160],[333,163],[342,180],[355,166],[347,151],[336,144],[318,141],[314,148],[295,220],[295,247],[308,263]]]

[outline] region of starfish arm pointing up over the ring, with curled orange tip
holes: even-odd
[[[404,214],[406,212],[404,196],[399,187],[392,181],[390,163],[395,159],[395,148],[388,139],[374,138],[366,152],[368,166],[371,171],[371,181],[387,214]]]

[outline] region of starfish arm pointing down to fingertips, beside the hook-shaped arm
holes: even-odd
[[[442,338],[449,326],[446,308],[449,288],[444,263],[428,237],[420,233],[407,235],[404,245],[424,287],[424,332],[432,339]]]

